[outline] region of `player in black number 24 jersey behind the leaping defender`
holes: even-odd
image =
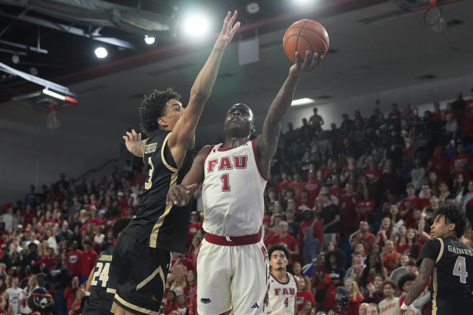
[[[118,219],[112,226],[113,238],[117,239],[122,230],[130,223],[130,218]],[[90,272],[86,291],[90,292],[82,315],[113,314],[113,297],[117,288],[117,277],[110,264],[114,246],[108,247],[97,258],[94,269]]]

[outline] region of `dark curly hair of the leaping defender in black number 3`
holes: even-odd
[[[158,119],[166,115],[169,99],[179,100],[181,95],[167,88],[165,91],[154,90],[150,95],[144,95],[138,107],[139,126],[146,136],[159,128]]]

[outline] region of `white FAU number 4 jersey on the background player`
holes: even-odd
[[[294,300],[297,294],[297,283],[294,276],[286,273],[289,281],[285,284],[277,281],[272,275],[270,278],[270,306],[274,315],[294,315]]]

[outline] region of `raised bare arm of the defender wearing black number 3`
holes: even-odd
[[[182,165],[189,144],[193,142],[194,132],[197,123],[199,122],[199,118],[201,117],[203,105],[210,96],[213,85],[215,84],[218,67],[222,60],[225,48],[230,43],[240,26],[240,22],[235,23],[236,14],[236,11],[233,16],[231,12],[228,12],[227,17],[223,22],[222,31],[213,46],[212,52],[192,86],[186,110],[184,111],[184,114],[182,114],[182,117],[177,121],[176,125],[172,128],[172,134],[169,137],[168,145],[178,168]],[[191,145],[193,146],[193,144]]]

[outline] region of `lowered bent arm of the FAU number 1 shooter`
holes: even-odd
[[[186,174],[180,185],[172,186],[168,191],[166,204],[171,202],[176,206],[185,206],[196,191],[198,184],[203,181],[203,163],[211,146],[205,146],[199,151],[191,169]]]

